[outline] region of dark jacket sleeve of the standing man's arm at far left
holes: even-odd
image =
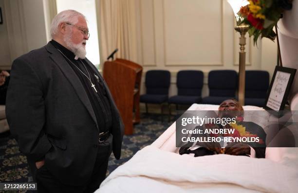
[[[22,153],[39,160],[52,147],[45,130],[42,83],[32,67],[22,59],[12,65],[7,90],[6,117]]]

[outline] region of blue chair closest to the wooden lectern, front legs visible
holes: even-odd
[[[163,105],[168,102],[168,88],[170,86],[170,72],[168,70],[149,70],[146,73],[146,94],[140,96],[140,102],[147,104],[160,104],[163,121]]]

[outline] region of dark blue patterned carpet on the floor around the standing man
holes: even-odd
[[[141,113],[141,123],[134,125],[134,134],[123,138],[121,159],[116,160],[111,155],[107,175],[128,161],[138,150],[151,144],[171,124],[160,120],[158,114]],[[0,134],[0,182],[32,182],[27,159],[19,152],[18,143],[9,132]]]

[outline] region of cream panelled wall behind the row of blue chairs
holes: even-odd
[[[177,93],[179,70],[202,70],[203,96],[208,95],[210,70],[236,70],[239,65],[239,34],[226,0],[136,0],[138,60],[147,70],[169,70],[169,95]],[[210,3],[212,2],[212,3]],[[275,44],[259,40],[253,46],[247,34],[246,70],[268,70],[276,64]],[[145,73],[141,93],[145,92]]]

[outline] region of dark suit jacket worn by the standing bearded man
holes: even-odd
[[[105,82],[104,87],[112,111],[113,153],[119,159],[124,127]],[[89,179],[98,124],[75,71],[51,43],[13,62],[6,116],[33,173],[35,162],[45,157],[44,166],[63,183],[80,185]]]

